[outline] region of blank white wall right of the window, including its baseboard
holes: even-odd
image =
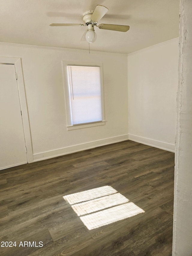
[[[175,150],[179,39],[128,55],[129,139]]]

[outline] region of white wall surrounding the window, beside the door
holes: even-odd
[[[21,58],[35,161],[128,139],[126,55],[1,43],[0,56]],[[106,125],[67,131],[63,60],[103,63]]]

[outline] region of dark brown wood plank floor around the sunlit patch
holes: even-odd
[[[102,186],[145,212],[88,230],[63,196]],[[173,187],[174,153],[130,140],[2,170],[0,255],[170,256]]]

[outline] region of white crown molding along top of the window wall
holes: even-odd
[[[28,48],[37,48],[37,49],[45,49],[45,50],[56,50],[56,51],[67,51],[67,52],[75,52],[75,53],[88,53],[88,50],[78,50],[78,49],[70,49],[70,48],[61,48],[61,47],[51,47],[51,46],[40,46],[40,45],[30,45],[30,44],[14,44],[14,43],[6,43],[0,42],[0,45],[5,46],[14,46],[14,47],[28,47]],[[99,52],[99,51],[90,51],[91,54],[105,54],[105,55],[115,55],[115,56],[127,56],[127,53],[110,53],[110,52]]]

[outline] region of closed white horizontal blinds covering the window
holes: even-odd
[[[67,67],[72,124],[102,121],[100,67]]]

